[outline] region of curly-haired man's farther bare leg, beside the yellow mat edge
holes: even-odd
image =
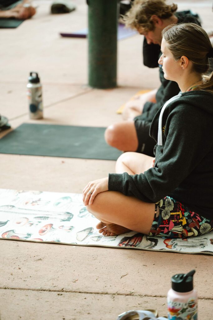
[[[133,120],[136,116],[141,115],[146,102],[156,102],[156,92],[157,89],[143,93],[140,96],[136,96],[135,99],[128,101],[122,113],[123,119]]]

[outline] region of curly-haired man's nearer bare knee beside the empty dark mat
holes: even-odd
[[[136,151],[137,132],[134,121],[125,121],[110,125],[105,131],[106,142],[121,151]]]

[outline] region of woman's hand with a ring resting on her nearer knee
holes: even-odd
[[[108,177],[89,182],[83,190],[84,205],[92,204],[98,193],[108,190]]]

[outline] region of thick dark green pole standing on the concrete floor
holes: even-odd
[[[87,0],[89,85],[107,89],[117,85],[117,0]]]

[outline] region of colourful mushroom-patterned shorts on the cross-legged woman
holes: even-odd
[[[149,236],[185,238],[213,229],[213,220],[188,210],[179,201],[166,196],[155,204],[155,216]]]

